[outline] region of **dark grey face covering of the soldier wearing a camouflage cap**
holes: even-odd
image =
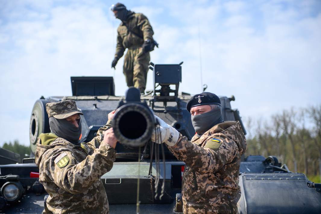
[[[66,119],[56,119],[55,117],[49,117],[50,131],[73,144],[80,144],[79,137],[81,135],[81,122],[79,120],[78,128],[67,121]]]

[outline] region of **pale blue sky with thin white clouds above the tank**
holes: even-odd
[[[116,95],[124,94],[123,58],[110,68],[115,3],[0,0],[0,145],[29,145],[34,102],[71,95],[70,76],[114,76]],[[321,1],[122,3],[150,20],[160,44],[152,62],[184,61],[181,91],[200,93],[206,83],[207,91],[233,94],[243,117],[321,104]]]

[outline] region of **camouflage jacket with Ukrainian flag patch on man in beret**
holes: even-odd
[[[246,150],[239,122],[213,126],[201,137],[186,137],[169,150],[186,163],[182,181],[184,213],[237,213],[239,167]]]

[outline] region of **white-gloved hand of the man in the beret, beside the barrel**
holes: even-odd
[[[158,136],[158,139],[156,140],[157,132],[155,132],[155,129],[153,130],[151,140],[156,143],[166,143],[169,146],[175,146],[179,138],[179,132],[174,127],[165,123],[158,116],[155,116],[155,119],[159,124],[157,126],[160,128],[161,141],[160,136]]]

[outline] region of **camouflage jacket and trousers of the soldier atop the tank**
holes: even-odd
[[[144,40],[153,41],[153,29],[147,17],[142,13],[129,12],[130,15],[126,21],[129,29],[143,39],[129,32],[126,25],[122,22],[117,29],[117,46],[115,58],[118,60],[124,55],[124,51],[128,48],[124,59],[123,72],[126,77],[127,86],[139,88],[141,92],[146,88],[147,71],[150,61],[149,52],[144,53],[142,45]]]

